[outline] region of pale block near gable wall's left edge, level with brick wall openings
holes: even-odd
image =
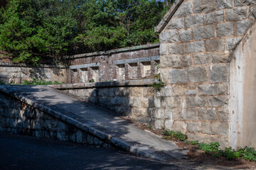
[[[163,57],[163,66],[178,68],[181,67],[181,56],[180,55],[166,55]]]

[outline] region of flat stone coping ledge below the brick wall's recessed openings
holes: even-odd
[[[48,85],[54,89],[92,89],[103,87],[120,87],[120,86],[150,86],[154,84],[155,79],[139,79],[127,81],[107,81],[97,83],[78,83],[78,84],[57,84]]]

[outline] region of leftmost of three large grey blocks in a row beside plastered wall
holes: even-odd
[[[169,69],[169,84],[186,82],[188,82],[186,69]]]

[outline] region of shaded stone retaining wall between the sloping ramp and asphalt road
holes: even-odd
[[[21,100],[24,102],[17,100],[12,95],[15,94],[11,94],[10,96],[10,94],[6,94],[3,91],[0,92],[1,131],[78,142],[87,145],[111,147],[110,142],[92,135],[93,132],[88,132],[89,128],[85,125],[80,125],[75,121],[75,118],[66,117],[58,113],[58,111],[29,101],[26,97],[16,96],[17,98],[22,98]],[[72,113],[68,113],[68,115],[70,116]]]

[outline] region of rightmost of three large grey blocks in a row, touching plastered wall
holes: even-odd
[[[210,83],[228,82],[228,65],[211,65],[209,81]]]

